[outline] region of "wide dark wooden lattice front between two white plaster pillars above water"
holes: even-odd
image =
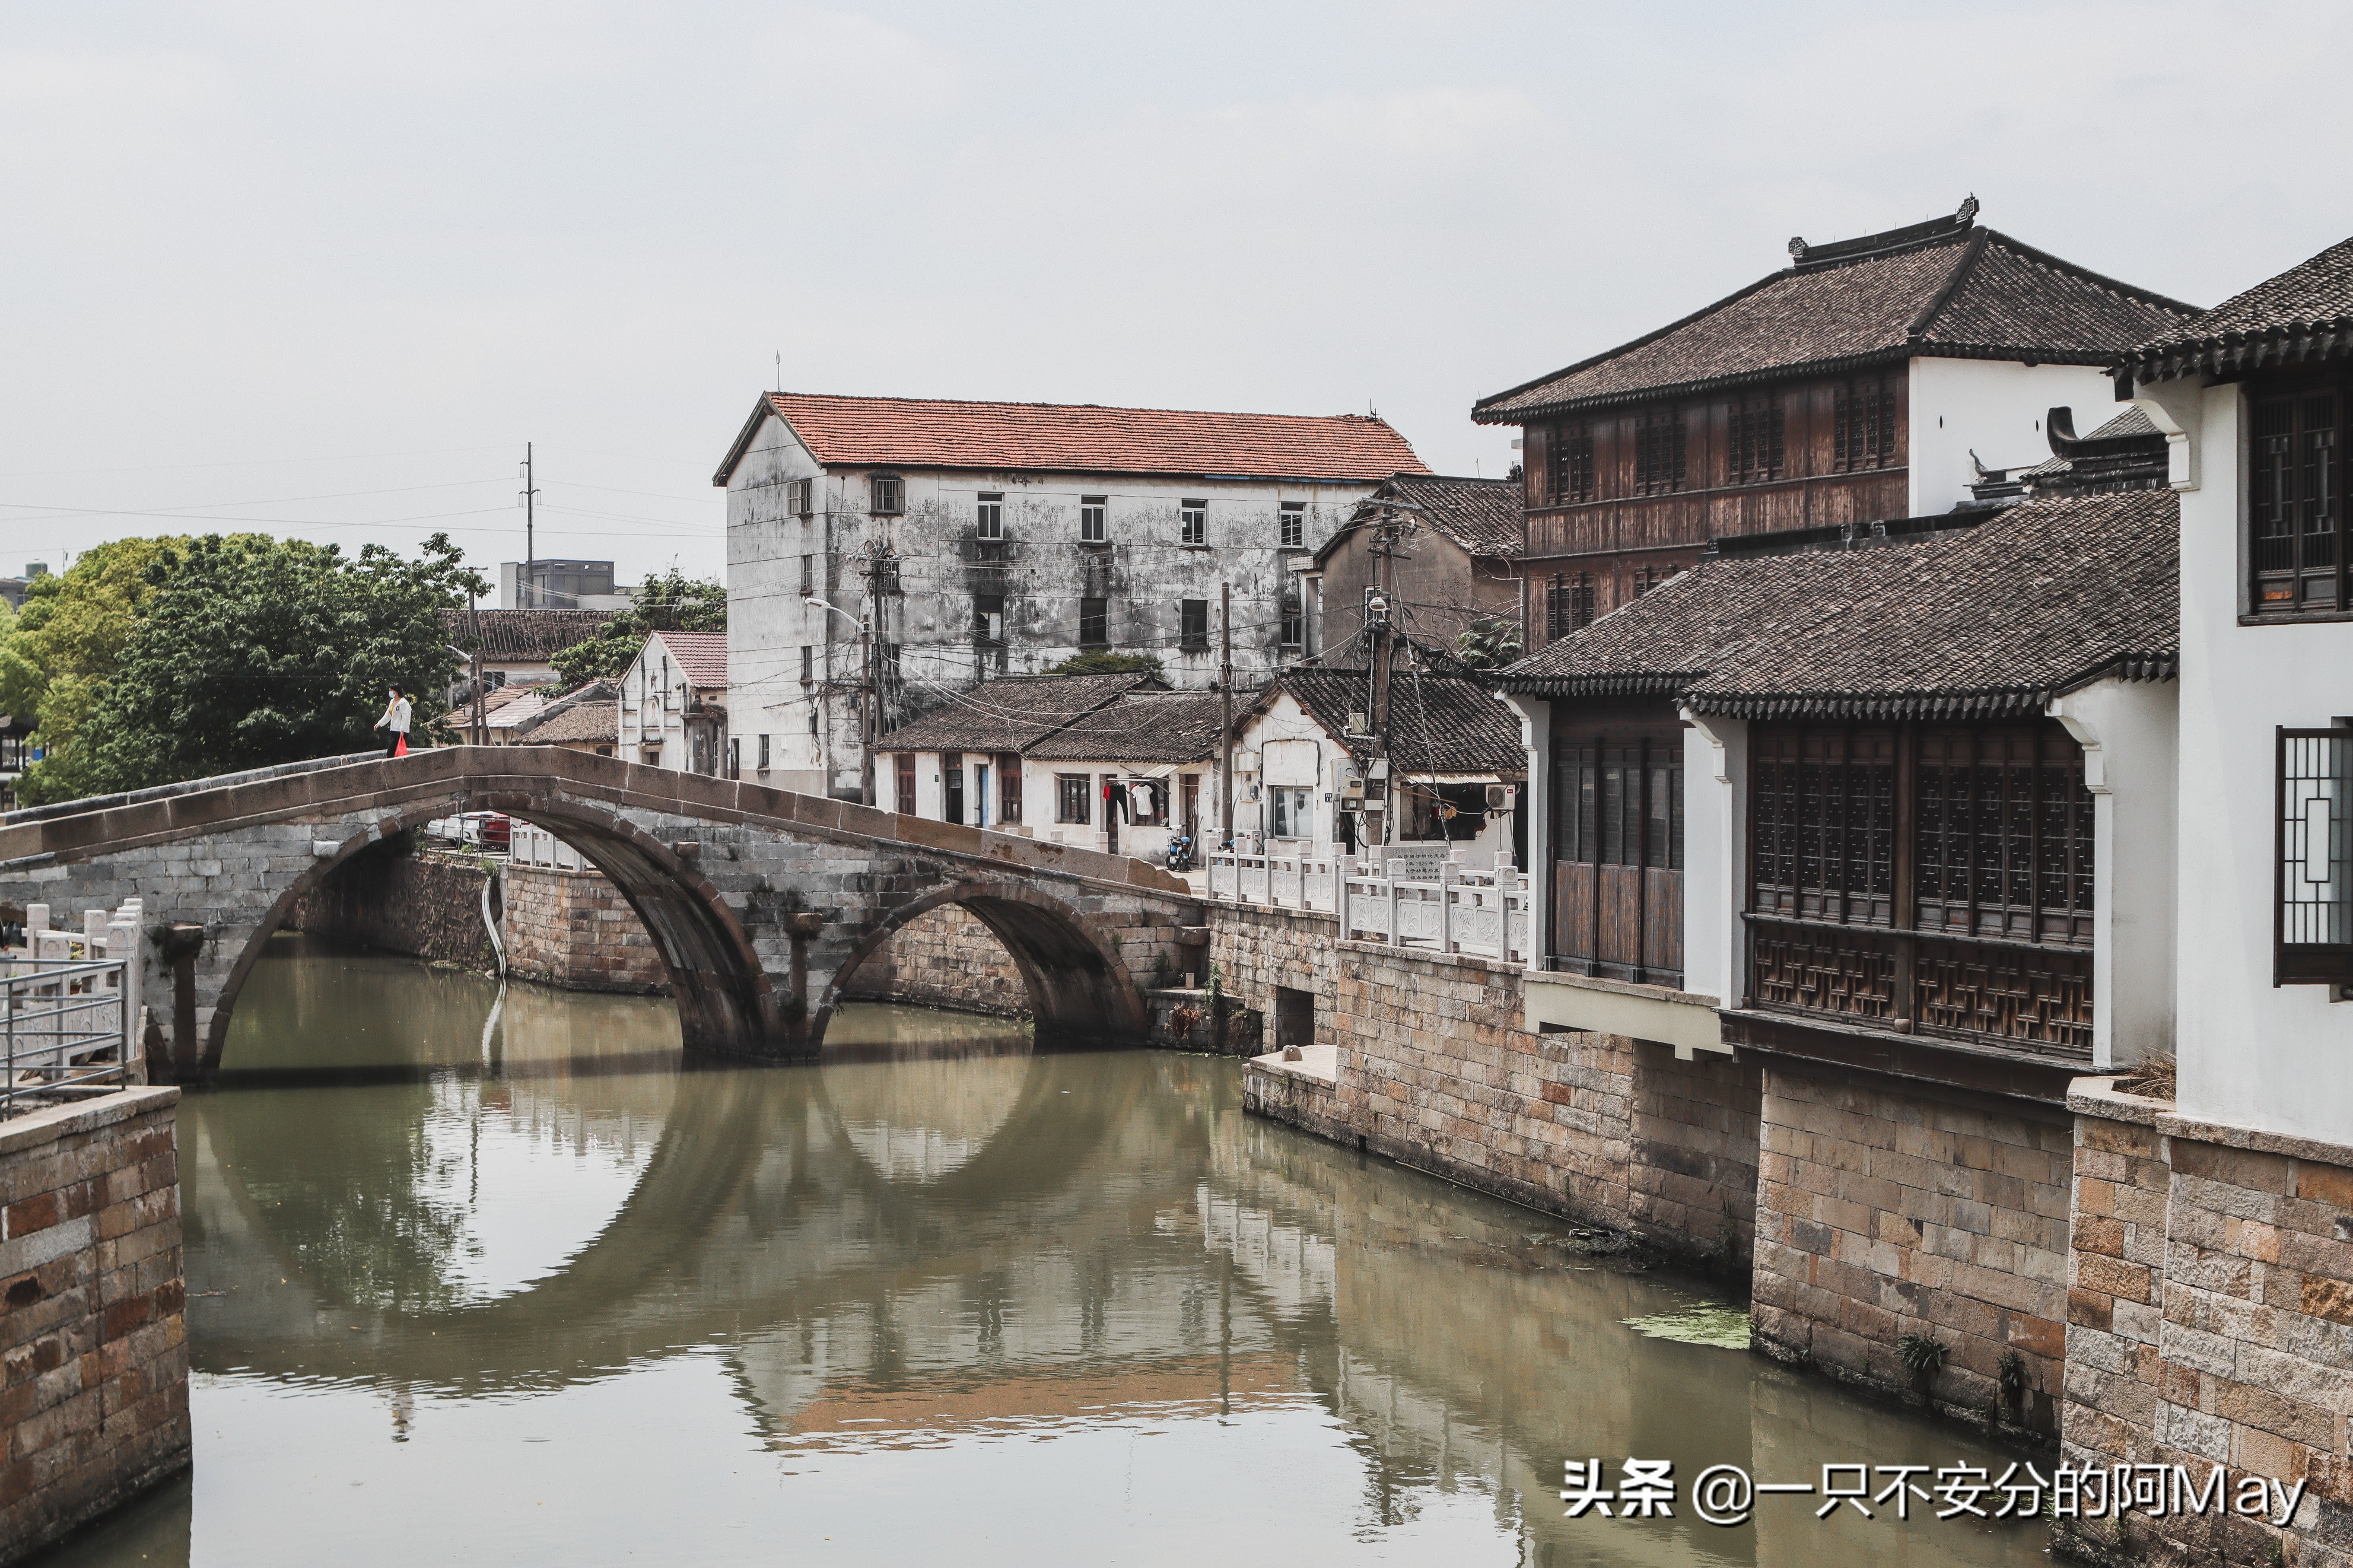
[[[1753,1008],[2092,1050],[2082,749],[2019,725],[1755,725]]]

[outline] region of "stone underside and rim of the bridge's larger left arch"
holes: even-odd
[[[494,810],[548,829],[612,881],[661,954],[687,1048],[739,1057],[769,1050],[769,1041],[779,1034],[781,1001],[760,968],[751,935],[720,890],[671,845],[614,812],[562,796],[452,793],[428,805],[412,803],[384,817],[372,833],[353,833],[332,857],[318,859],[280,890],[221,982],[212,1026],[205,1031],[200,1071],[212,1074],[221,1067],[238,994],[306,892],[398,833],[473,810]]]

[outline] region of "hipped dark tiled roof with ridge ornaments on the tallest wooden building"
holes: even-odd
[[[1480,400],[1482,424],[1911,356],[2106,365],[2195,313],[1960,219],[1814,259],[1647,337]]]

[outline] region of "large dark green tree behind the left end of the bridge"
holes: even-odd
[[[249,534],[158,553],[146,617],[73,746],[71,782],[104,793],[360,751],[381,739],[388,685],[414,704],[412,735],[447,739],[442,697],[461,659],[440,612],[487,586],[461,563],[447,534],[416,560]]]

